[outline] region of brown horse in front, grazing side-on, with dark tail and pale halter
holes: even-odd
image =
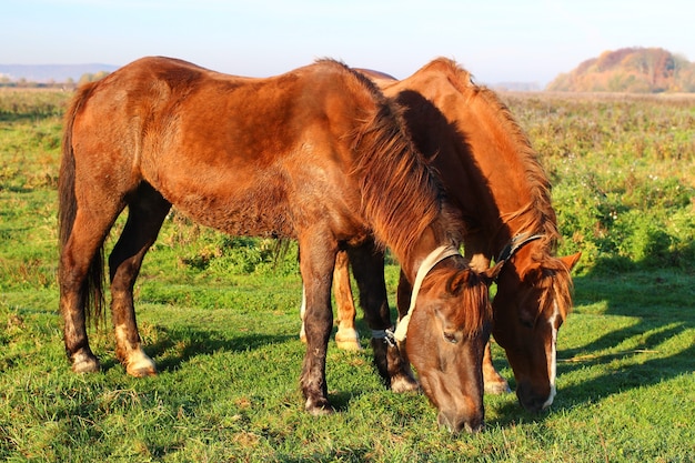
[[[66,115],[59,180],[60,310],[72,370],[100,369],[85,320],[100,318],[103,242],[128,207],[109,256],[115,354],[129,374],[155,374],[133,285],[173,204],[230,234],[299,241],[308,341],[300,383],[312,414],[332,411],[325,355],[335,255],[349,249],[364,271],[375,249],[392,249],[407,279],[424,279],[410,341],[423,352],[446,344],[437,359],[413,356],[442,383],[430,396],[440,421],[480,429],[486,284],[498,268],[479,275],[457,252],[441,254],[460,225],[422,159],[399,107],[335,61],[250,79],[144,58],[82,87]],[[374,330],[391,326],[387,305],[367,304],[366,318]],[[416,386],[397,348],[377,343],[375,358],[396,389]],[[453,365],[466,373],[449,375]]]

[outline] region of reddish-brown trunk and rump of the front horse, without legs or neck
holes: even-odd
[[[143,58],[77,98],[78,177],[104,195],[127,201],[144,181],[192,219],[233,234],[292,236],[298,222],[326,210],[360,222],[349,212],[360,209],[351,137],[379,101],[341,63],[253,79]]]

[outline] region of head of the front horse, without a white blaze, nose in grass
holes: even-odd
[[[452,433],[484,426],[482,359],[492,318],[488,285],[501,264],[476,273],[459,256],[437,264],[413,296],[405,352],[440,425]],[[396,339],[399,330],[396,330]]]

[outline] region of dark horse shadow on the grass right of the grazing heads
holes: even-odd
[[[612,262],[623,265],[623,262]],[[598,266],[598,265],[597,265]],[[684,333],[695,329],[695,274],[677,269],[656,270],[633,266],[625,273],[592,272],[574,278],[575,306],[605,304],[594,316],[625,318],[623,328],[601,332],[584,345],[557,351],[558,390],[551,413],[572,409],[633,389],[656,385],[688,373],[695,368],[695,336],[683,342]],[[572,318],[566,323],[572,323]],[[689,334],[685,334],[685,339]],[[671,343],[671,346],[664,344]],[[678,345],[681,348],[675,348]],[[679,350],[677,350],[679,349]],[[674,351],[664,354],[663,351]],[[506,360],[495,368],[506,366]],[[602,373],[585,381],[563,385],[563,374],[601,366]],[[510,386],[515,387],[514,379]],[[502,405],[501,425],[524,421],[543,421],[547,412],[530,414],[516,401]]]

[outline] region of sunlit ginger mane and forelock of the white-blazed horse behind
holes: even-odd
[[[537,152],[531,145],[526,132],[518,124],[508,107],[500,95],[485,85],[474,83],[473,76],[455,61],[447,58],[437,58],[425,64],[422,70],[442,72],[449,82],[469,100],[480,98],[492,108],[500,127],[508,133],[523,165],[531,201],[515,212],[503,215],[503,222],[518,221],[517,234],[541,234],[540,245],[534,246],[532,260],[543,268],[542,280],[537,288],[542,289],[540,310],[548,309],[550,304],[557,303],[563,319],[572,308],[572,278],[564,263],[554,258],[557,243],[561,239],[557,230],[557,218],[552,205],[552,185],[541,165]]]

